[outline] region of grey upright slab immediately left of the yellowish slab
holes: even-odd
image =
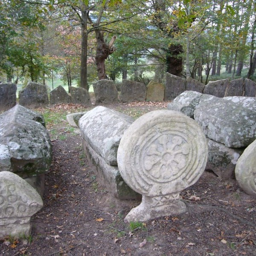
[[[145,101],[145,84],[123,79],[121,85],[120,102]]]

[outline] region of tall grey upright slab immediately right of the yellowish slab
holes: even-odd
[[[164,100],[173,100],[180,93],[183,93],[186,90],[186,80],[179,77],[174,76],[172,74],[166,73],[166,85],[164,90]]]

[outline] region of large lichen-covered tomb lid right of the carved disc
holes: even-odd
[[[256,114],[230,100],[201,96],[194,118],[211,140],[243,148],[256,139]]]

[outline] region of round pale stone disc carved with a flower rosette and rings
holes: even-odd
[[[204,172],[206,138],[195,120],[171,110],[151,111],[125,131],[117,151],[119,171],[147,196],[180,192]]]

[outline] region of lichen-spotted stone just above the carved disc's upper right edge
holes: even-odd
[[[195,91],[185,91],[167,105],[167,109],[179,111],[186,116],[194,118],[195,107],[199,104],[203,94]]]

